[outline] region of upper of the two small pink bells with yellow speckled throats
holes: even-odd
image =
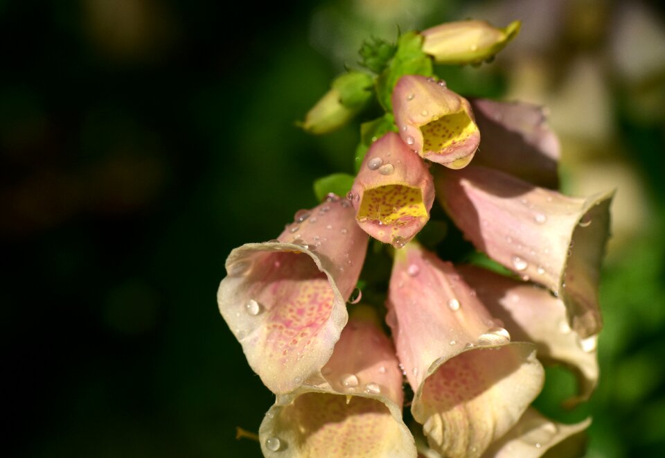
[[[480,143],[468,100],[445,82],[402,76],[393,90],[393,114],[402,140],[418,155],[449,168],[463,168]]]

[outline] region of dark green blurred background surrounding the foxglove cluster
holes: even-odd
[[[657,1],[0,0],[0,283],[10,457],[254,457],[273,396],[220,317],[224,259],[353,173],[357,125],[294,122],[362,39],[465,17],[520,36],[450,70],[550,107],[565,191],[619,188],[589,457],[665,443],[665,27]]]

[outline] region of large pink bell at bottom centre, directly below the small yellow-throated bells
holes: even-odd
[[[542,389],[535,346],[510,335],[451,263],[411,243],[396,252],[387,322],[415,391],[411,413],[445,457],[479,457]]]

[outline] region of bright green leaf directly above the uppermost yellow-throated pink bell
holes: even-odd
[[[423,37],[405,33],[397,42],[397,51],[388,67],[376,79],[376,96],[381,106],[391,112],[393,88],[403,75],[433,76],[432,58],[423,53]]]

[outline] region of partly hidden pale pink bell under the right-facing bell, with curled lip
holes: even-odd
[[[568,326],[566,306],[547,290],[472,265],[457,266],[464,281],[493,316],[501,319],[513,340],[535,343],[544,362],[565,363],[578,376],[580,393],[569,407],[588,400],[598,384],[598,358],[592,341],[581,340]]]

